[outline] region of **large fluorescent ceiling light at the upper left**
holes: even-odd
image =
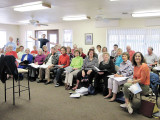
[[[14,11],[26,12],[51,8],[51,4],[42,1],[25,3],[14,7]]]

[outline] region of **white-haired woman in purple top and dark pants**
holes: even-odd
[[[38,54],[34,59],[34,64],[35,65],[42,65],[44,63],[46,56],[43,54],[43,50],[41,48],[38,49]],[[36,77],[38,74],[36,74],[36,72],[38,73],[39,69],[38,68],[33,68],[33,67],[29,67],[29,77],[30,77],[30,81],[35,81]]]

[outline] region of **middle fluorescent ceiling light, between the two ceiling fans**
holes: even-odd
[[[86,20],[86,19],[90,19],[90,17],[88,17],[86,15],[65,16],[65,17],[63,17],[64,21]]]

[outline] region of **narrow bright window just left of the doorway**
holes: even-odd
[[[27,31],[26,32],[26,48],[29,48],[30,51],[33,49],[33,46],[34,46],[34,41],[29,38],[29,36],[32,36],[32,31]]]

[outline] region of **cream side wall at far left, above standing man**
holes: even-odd
[[[7,32],[7,42],[9,41],[10,36],[13,37],[14,42],[16,42],[16,39],[19,38],[19,26],[17,25],[0,24],[0,30]]]

